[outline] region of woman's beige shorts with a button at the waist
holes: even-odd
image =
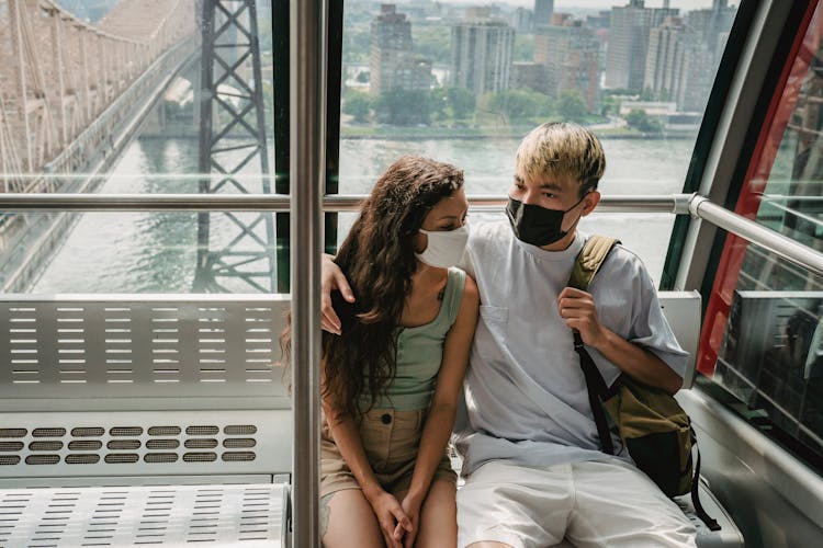
[[[426,424],[427,410],[397,411],[372,409],[360,420],[360,439],[377,481],[395,496],[408,491],[415,470],[420,436]],[[436,479],[456,483],[448,447],[435,470]],[[337,448],[326,420],[320,431],[320,496],[343,489],[360,489],[340,450]]]

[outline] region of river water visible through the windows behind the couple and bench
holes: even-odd
[[[511,182],[518,139],[343,139],[340,144],[340,192],[364,194],[380,173],[402,155],[422,155],[454,163],[465,172],[469,194],[505,194]],[[606,175],[600,192],[670,194],[683,187],[691,139],[604,139]],[[195,139],[138,139],[131,145],[104,193],[196,192]],[[189,293],[196,259],[196,214],[87,213],[35,284],[33,292]],[[486,218],[487,215],[472,215]],[[494,215],[493,215],[494,217]],[[213,233],[236,235],[225,216],[213,216]],[[341,232],[352,215],[341,215]],[[595,214],[582,228],[619,238],[643,259],[658,281],[674,216],[668,214]]]

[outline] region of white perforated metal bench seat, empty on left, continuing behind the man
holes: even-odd
[[[695,355],[700,297],[661,294]],[[0,546],[289,546],[286,295],[0,296]],[[694,358],[684,386],[691,386]],[[701,548],[742,546],[698,526]],[[677,500],[694,516],[688,496]],[[696,518],[692,518],[692,521]]]

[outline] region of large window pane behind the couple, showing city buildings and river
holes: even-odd
[[[504,195],[520,138],[548,121],[598,134],[604,194],[680,192],[736,8],[667,4],[347,2],[340,192],[367,193],[421,155],[462,168],[470,195]],[[628,216],[597,215],[587,229],[643,241],[659,279],[673,217],[643,217],[628,231]]]

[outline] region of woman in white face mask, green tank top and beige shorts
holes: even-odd
[[[326,548],[455,546],[447,445],[477,321],[463,173],[392,164],[335,262],[357,301],[324,332],[320,524]]]

